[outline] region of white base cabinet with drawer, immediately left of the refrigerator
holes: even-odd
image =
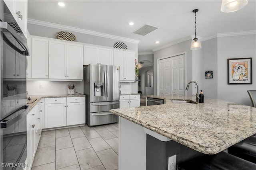
[[[85,123],[85,97],[67,98],[67,125]]]

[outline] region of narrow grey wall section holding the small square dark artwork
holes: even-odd
[[[204,95],[207,98],[217,99],[217,84],[218,84],[218,65],[217,65],[217,38],[213,38],[204,41],[202,47],[202,77],[205,75],[205,71],[213,71],[213,78],[202,78],[202,84],[204,86]]]

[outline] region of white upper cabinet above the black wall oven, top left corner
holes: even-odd
[[[24,35],[27,36],[28,0],[4,0],[4,2]]]

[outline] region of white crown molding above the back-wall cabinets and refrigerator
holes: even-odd
[[[41,26],[45,26],[45,27],[53,27],[53,28],[58,28],[58,29],[64,29],[64,30],[68,30],[68,31],[74,31],[74,32],[84,33],[84,34],[89,34],[89,35],[95,35],[95,36],[104,37],[104,38],[116,39],[116,40],[126,41],[126,42],[130,42],[130,43],[138,44],[140,42],[139,40],[136,40],[136,39],[119,37],[119,36],[116,36],[116,35],[110,35],[110,34],[100,33],[100,32],[96,32],[96,31],[90,31],[90,30],[87,30],[87,29],[81,29],[81,28],[70,27],[70,26],[66,26],[66,25],[60,25],[60,24],[56,24],[56,23],[33,20],[33,19],[30,19],[30,18],[28,18],[28,23],[34,24],[34,25],[41,25]]]

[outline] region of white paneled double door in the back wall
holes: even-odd
[[[185,55],[158,61],[158,95],[185,95]]]

